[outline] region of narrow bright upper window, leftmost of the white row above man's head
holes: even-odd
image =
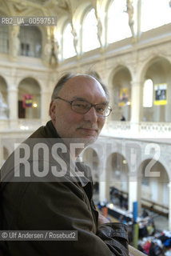
[[[76,55],[74,49],[74,36],[70,23],[63,30],[63,58],[71,58]]]

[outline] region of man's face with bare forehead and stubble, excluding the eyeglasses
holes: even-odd
[[[101,84],[83,75],[70,78],[59,91],[58,97],[68,101],[85,99],[92,104],[108,102]],[[74,138],[85,146],[93,143],[105,124],[105,117],[99,117],[94,107],[79,114],[71,109],[70,103],[56,99],[50,104],[50,117],[61,138]]]

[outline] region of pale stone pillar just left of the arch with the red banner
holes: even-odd
[[[9,104],[9,118],[10,128],[17,128],[18,126],[18,88],[10,86],[8,88],[8,104]]]

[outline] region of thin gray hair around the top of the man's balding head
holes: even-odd
[[[83,75],[87,78],[94,78],[97,80],[97,82],[99,82],[103,88],[103,90],[105,91],[105,95],[106,98],[109,101],[109,90],[107,89],[107,87],[105,86],[105,84],[101,81],[101,78],[99,77],[99,75],[95,72],[95,71],[91,71],[87,74],[73,74],[73,73],[66,73],[62,76],[62,78],[60,78],[58,80],[58,83],[56,84],[56,86],[54,87],[54,91],[51,97],[51,100],[53,100],[54,98],[56,98],[58,96],[59,91],[62,89],[62,87],[66,84],[66,82],[68,80],[70,80],[70,78],[74,78],[77,77],[78,75]]]

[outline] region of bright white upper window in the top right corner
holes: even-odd
[[[141,31],[152,30],[171,22],[169,0],[143,0],[141,6]]]

